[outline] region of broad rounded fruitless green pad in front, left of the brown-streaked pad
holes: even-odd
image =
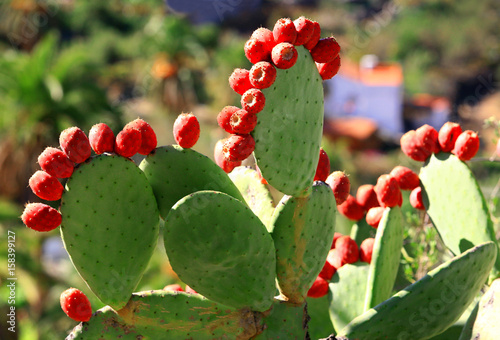
[[[200,294],[236,308],[271,307],[273,240],[241,201],[212,191],[186,196],[167,215],[164,239],[172,268]]]

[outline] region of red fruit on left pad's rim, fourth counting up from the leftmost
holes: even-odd
[[[85,162],[92,154],[90,142],[82,129],[73,126],[59,135],[59,145],[71,161]]]

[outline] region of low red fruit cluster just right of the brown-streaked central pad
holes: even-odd
[[[358,248],[356,241],[350,236],[335,233],[325,265],[307,292],[307,296],[320,298],[328,294],[328,283],[342,266],[358,261],[370,263],[374,242],[374,238],[367,238],[361,242]]]

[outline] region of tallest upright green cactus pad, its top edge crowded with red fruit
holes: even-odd
[[[323,134],[323,81],[311,54],[296,46],[297,63],[277,69],[274,84],[262,90],[264,109],[252,135],[254,155],[270,185],[303,196],[313,184]]]

